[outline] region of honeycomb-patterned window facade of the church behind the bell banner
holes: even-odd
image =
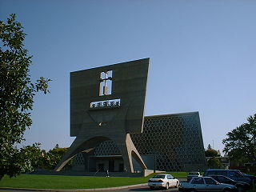
[[[149,169],[165,171],[206,169],[198,112],[147,116],[144,118],[142,134],[130,134],[130,136],[144,162],[146,157],[151,157],[154,161],[154,167],[146,165]],[[111,157],[111,155],[120,155],[120,151],[114,142],[106,141],[94,149],[90,158]]]

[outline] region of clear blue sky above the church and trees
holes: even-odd
[[[26,142],[70,146],[70,72],[151,58],[146,115],[199,111],[205,146],[256,113],[254,0],[0,0],[17,14],[38,94]]]

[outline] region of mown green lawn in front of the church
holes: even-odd
[[[185,172],[170,172],[175,178],[186,177]],[[92,189],[112,186],[129,186],[146,183],[153,174],[145,178],[106,178],[89,176],[63,176],[21,174],[17,178],[4,177],[0,187],[34,188],[34,189]]]

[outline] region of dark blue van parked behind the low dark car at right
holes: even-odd
[[[247,182],[250,184],[250,186],[253,185],[253,180],[246,177],[244,174],[240,172],[240,170],[224,170],[224,169],[212,169],[212,170],[206,170],[204,176],[210,176],[210,175],[223,175],[227,178],[231,178],[234,181],[237,182]]]

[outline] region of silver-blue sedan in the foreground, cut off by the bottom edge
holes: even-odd
[[[210,177],[198,177],[191,178],[190,182],[181,182],[179,191],[223,191],[223,192],[233,192],[237,191],[236,186],[229,184],[219,183]]]

